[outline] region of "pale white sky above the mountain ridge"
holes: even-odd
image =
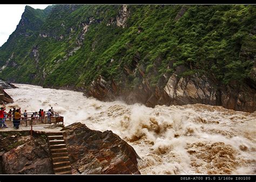
[[[15,31],[26,5],[34,9],[45,9],[51,4],[0,4],[0,46]]]

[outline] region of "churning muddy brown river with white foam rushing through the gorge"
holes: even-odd
[[[255,174],[256,112],[203,104],[156,106],[100,102],[82,92],[14,84],[5,90],[22,112],[53,109],[64,124],[111,130],[140,158],[142,174]],[[10,108],[9,108],[10,107]]]

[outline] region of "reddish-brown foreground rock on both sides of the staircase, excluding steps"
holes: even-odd
[[[111,131],[90,130],[75,123],[63,129],[73,174],[140,174],[138,155]],[[44,132],[0,132],[1,174],[53,174]]]

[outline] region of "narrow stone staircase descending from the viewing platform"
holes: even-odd
[[[62,132],[48,132],[48,143],[51,152],[53,171],[55,174],[72,174]]]

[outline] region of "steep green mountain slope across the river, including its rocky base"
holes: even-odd
[[[26,7],[0,48],[9,82],[147,106],[256,110],[253,5]]]

